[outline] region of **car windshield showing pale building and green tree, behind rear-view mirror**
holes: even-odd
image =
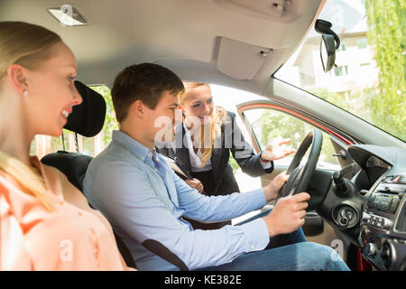
[[[406,141],[404,1],[328,0],[318,19],[341,44],[327,73],[311,29],[274,77],[323,98]]]

